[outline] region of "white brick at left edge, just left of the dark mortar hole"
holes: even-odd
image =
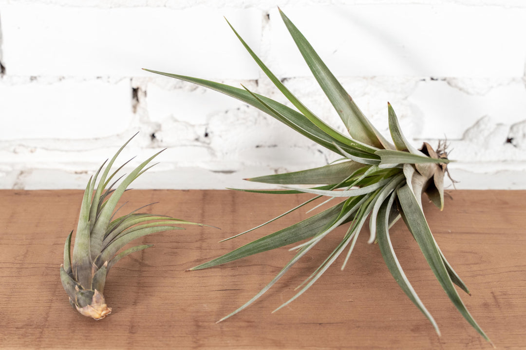
[[[0,80],[0,140],[89,139],[133,121],[129,80]]]

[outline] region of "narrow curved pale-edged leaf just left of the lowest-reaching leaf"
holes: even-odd
[[[426,306],[423,305],[417,293],[414,291],[411,283],[406,277],[406,274],[403,272],[402,267],[400,266],[400,262],[398,261],[395,250],[391,244],[391,238],[389,237],[389,214],[395,198],[396,192],[393,192],[389,200],[384,201],[378,211],[378,216],[376,217],[376,237],[378,239],[378,246],[380,247],[383,260],[386,262],[387,268],[389,269],[389,272],[391,272],[393,278],[395,278],[395,281],[398,283],[403,292],[406,293],[413,304],[416,305],[424,315],[426,315],[440,336],[440,330],[438,329],[437,322],[434,321],[433,316],[431,316],[429,311],[426,309]]]

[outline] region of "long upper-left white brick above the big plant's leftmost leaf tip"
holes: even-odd
[[[222,16],[259,50],[256,9],[78,8],[3,5],[9,75],[141,76],[141,68],[207,78],[259,73]]]

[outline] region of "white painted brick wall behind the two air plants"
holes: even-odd
[[[415,145],[447,137],[457,188],[526,188],[522,0],[0,0],[0,188],[84,188],[167,148],[134,188],[257,187],[242,178],[334,154],[244,103],[141,68],[284,101],[226,16],[287,86],[343,130],[276,5],[388,135],[387,101]]]

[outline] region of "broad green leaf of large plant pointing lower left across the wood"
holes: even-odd
[[[342,207],[343,203],[335,205],[319,214],[276,231],[273,234],[256,239],[255,241],[247,243],[246,245],[232,250],[218,258],[193,267],[190,270],[200,270],[218,266],[220,264],[248,257],[263,251],[283,247],[318,235],[332,225],[332,223],[338,218]]]

